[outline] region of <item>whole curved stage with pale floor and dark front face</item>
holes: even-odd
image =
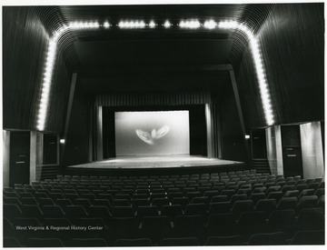
[[[198,155],[151,155],[151,156],[117,156],[82,165],[66,167],[67,174],[104,175],[105,173],[129,173],[138,175],[147,173],[213,173],[247,169],[243,162]],[[101,173],[101,174],[100,174]]]

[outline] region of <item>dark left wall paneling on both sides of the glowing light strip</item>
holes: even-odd
[[[49,37],[36,7],[3,8],[4,127],[35,130]],[[61,132],[71,73],[59,49],[54,65],[47,131]]]

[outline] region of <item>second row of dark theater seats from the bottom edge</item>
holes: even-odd
[[[50,230],[29,231],[15,230],[15,226],[35,226],[35,228],[50,227]],[[56,231],[51,226],[62,226],[63,230]],[[69,227],[65,229],[65,227]],[[74,227],[71,230],[71,227]],[[88,228],[86,231],[75,227]],[[91,227],[90,227],[91,226]],[[44,218],[42,223],[36,218],[15,217],[5,218],[5,235],[19,237],[23,242],[36,235],[41,238],[57,236],[64,243],[71,238],[84,236],[85,238],[101,237],[108,243],[120,238],[150,238],[154,245],[158,245],[163,238],[196,237],[204,244],[211,236],[242,235],[247,241],[252,235],[259,233],[282,232],[285,239],[291,239],[298,231],[323,230],[324,210],[322,208],[305,208],[296,216],[292,209],[273,211],[266,219],[263,211],[244,212],[235,221],[233,214],[210,215],[207,224],[201,215],[179,215],[173,223],[168,216],[144,216],[140,222],[134,217],[112,217],[106,222],[102,217],[96,218]],[[90,227],[90,228],[89,228]],[[68,230],[68,231],[66,231]],[[68,233],[67,233],[68,232]]]

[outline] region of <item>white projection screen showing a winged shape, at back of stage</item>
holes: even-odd
[[[116,112],[116,155],[189,155],[188,111]]]

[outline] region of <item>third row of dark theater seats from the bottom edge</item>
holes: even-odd
[[[233,196],[233,197],[239,197]],[[190,204],[186,204],[188,199],[174,198],[173,203],[170,204],[166,199],[158,199],[158,201],[167,201],[168,204],[162,205],[140,205],[140,200],[136,200],[138,205],[115,205],[114,207],[108,206],[107,200],[95,200],[99,205],[90,205],[87,199],[77,199],[73,201],[73,205],[19,205],[17,198],[4,198],[4,211],[7,217],[94,217],[101,215],[104,218],[109,217],[135,217],[142,219],[146,215],[158,216],[167,215],[174,218],[177,215],[203,215],[206,218],[213,214],[223,214],[232,212],[235,219],[237,219],[243,212],[249,211],[263,211],[267,217],[272,211],[278,209],[292,209],[297,214],[303,208],[324,207],[324,195],[318,200],[316,195],[302,196],[300,201],[297,202],[297,197],[284,197],[278,204],[276,199],[263,198],[259,199],[255,205],[251,199],[233,200],[223,202],[212,202],[205,204],[203,201],[208,197],[194,197]],[[246,198],[245,196],[241,196]],[[213,197],[214,198],[214,197]],[[50,199],[51,200],[51,199]],[[52,200],[51,200],[52,201]],[[84,203],[87,201],[87,204]],[[155,201],[155,200],[154,200]],[[58,203],[58,201],[54,201]],[[54,203],[52,201],[52,203]],[[81,203],[83,202],[83,203]],[[100,203],[101,202],[101,203]],[[144,200],[146,202],[146,200]],[[70,203],[72,204],[72,202]],[[84,205],[81,205],[84,204]],[[86,204],[86,205],[85,205]],[[183,204],[183,205],[182,205]],[[133,203],[135,206],[135,204]]]

